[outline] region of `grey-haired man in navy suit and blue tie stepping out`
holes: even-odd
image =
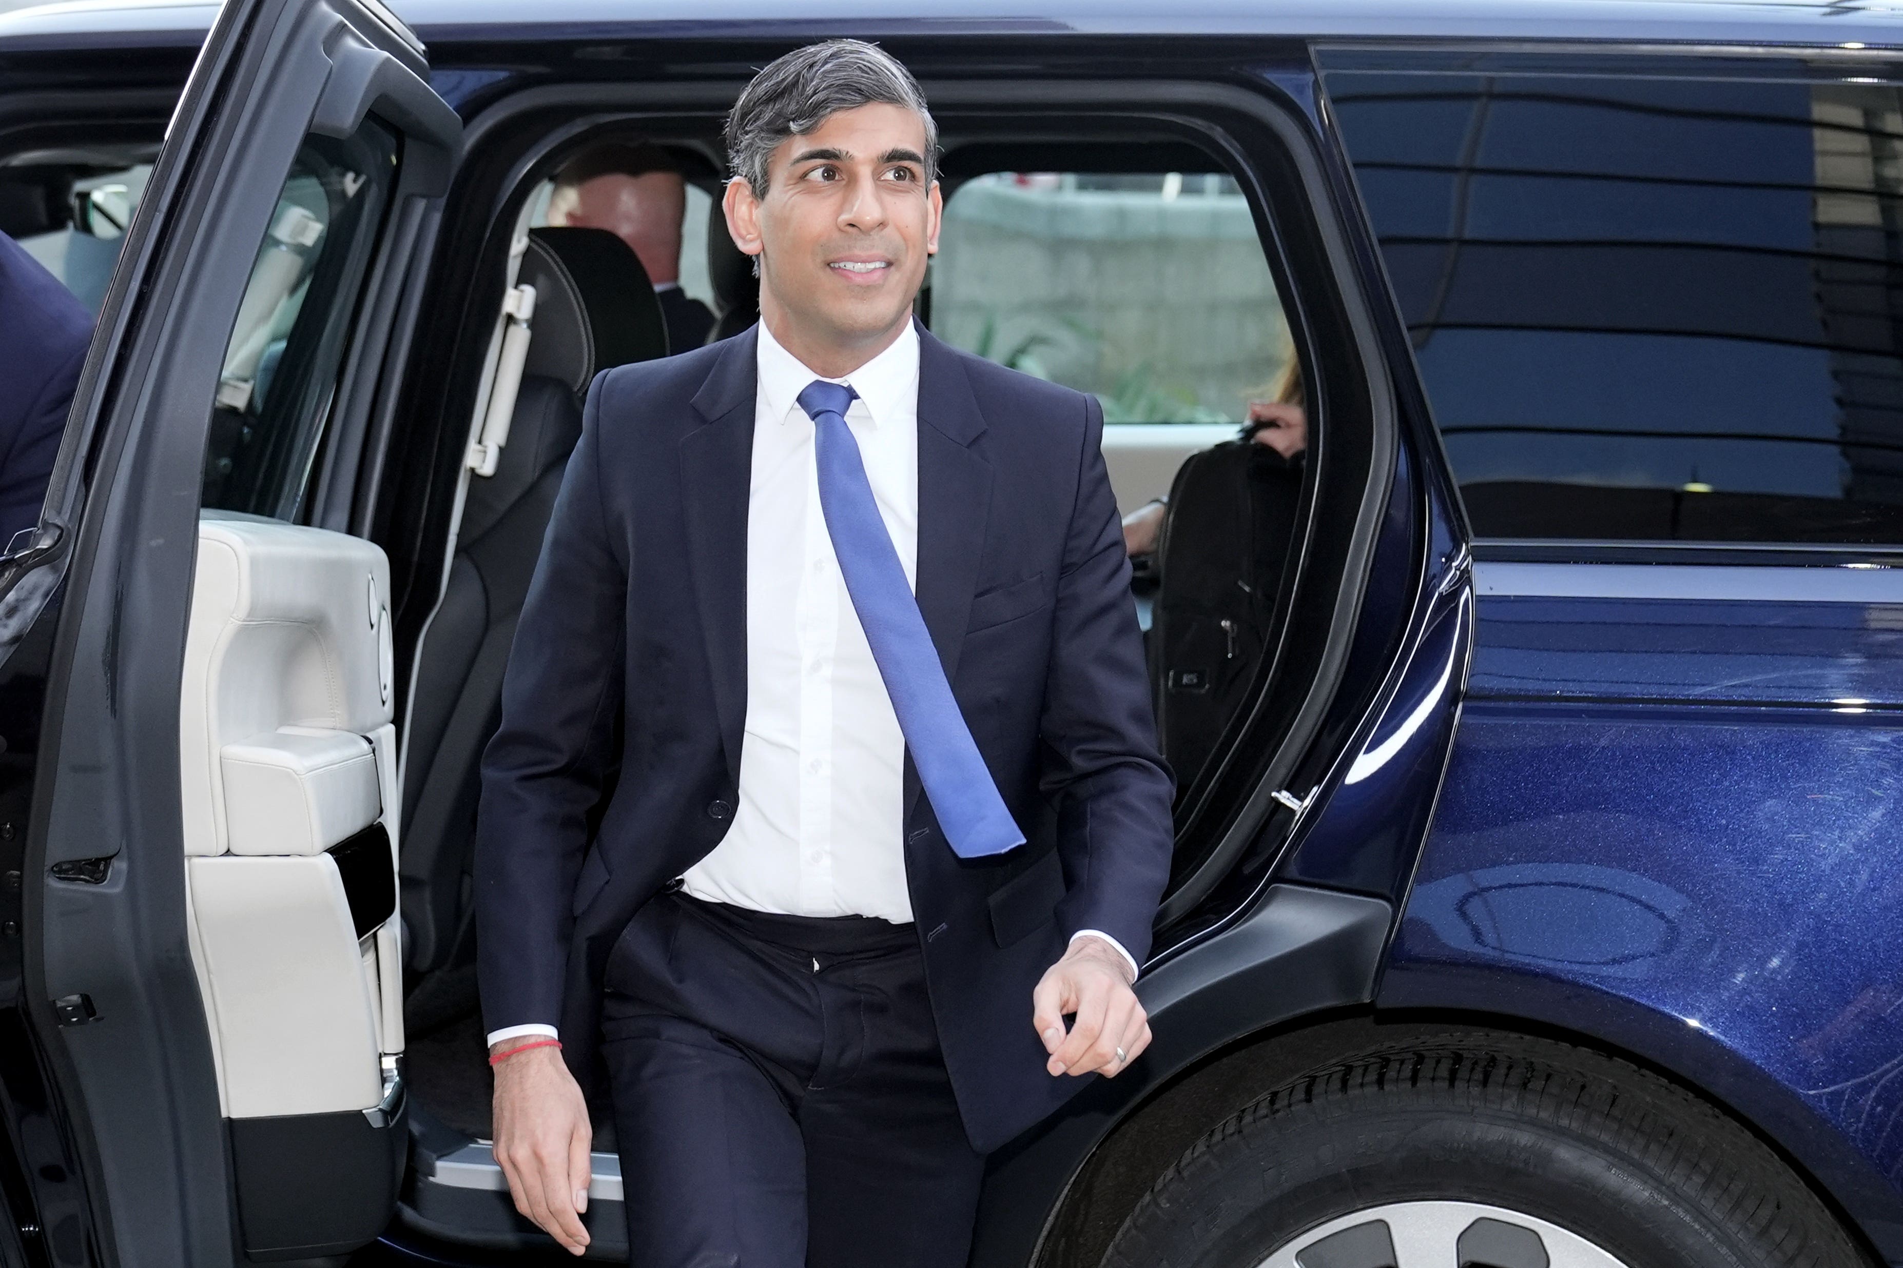
[[[984,1154],[1149,1042],[1104,416],[913,323],[936,129],[883,51],[788,53],[727,148],[761,321],[596,380],[483,760],[495,1152],[580,1253],[605,1074],[643,1268],[961,1268]]]

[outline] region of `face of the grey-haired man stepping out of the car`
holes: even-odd
[[[940,207],[925,122],[893,105],[841,110],[780,143],[765,198],[746,181],[727,186],[733,240],[759,257],[761,316],[803,355],[891,340],[938,251]]]

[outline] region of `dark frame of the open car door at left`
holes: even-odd
[[[459,120],[377,0],[232,0],[179,101],[82,373],[49,511],[6,601],[57,622],[27,833],[25,1004],[103,1262],[232,1262],[238,1213],[188,930],[179,684],[225,342],[310,131],[403,133],[352,361],[447,184]],[[363,407],[339,388],[333,411]],[[333,414],[335,424],[335,414]],[[63,586],[57,605],[46,601]]]

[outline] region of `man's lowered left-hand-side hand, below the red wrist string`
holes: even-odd
[[[520,1042],[502,1040],[489,1051]],[[495,1160],[508,1194],[571,1255],[588,1245],[580,1213],[588,1209],[590,1144],[588,1103],[559,1047],[535,1047],[495,1066]]]

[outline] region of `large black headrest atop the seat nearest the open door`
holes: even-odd
[[[596,373],[668,355],[668,323],[634,249],[605,228],[535,228],[518,281],[535,287],[523,375],[580,395]]]

